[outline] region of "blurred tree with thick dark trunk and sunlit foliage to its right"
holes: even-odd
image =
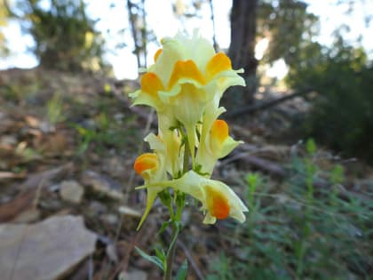
[[[297,0],[242,1],[234,0],[231,11],[231,44],[228,55],[234,68],[243,68],[246,88],[234,87],[223,102],[227,108],[239,108],[253,103],[258,86],[258,64],[272,65],[284,60],[297,68],[296,58],[318,33],[318,18],[306,11],[307,4]],[[291,31],[290,31],[291,30]],[[256,58],[260,40],[268,47],[262,58]]]

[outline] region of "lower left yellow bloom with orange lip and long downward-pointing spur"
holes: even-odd
[[[139,156],[133,164],[133,169],[145,180],[146,184],[165,180],[159,157],[155,153],[146,153]],[[147,214],[150,212],[156,196],[162,190],[162,187],[147,188],[147,207],[139,221],[138,229],[145,219],[147,219]]]

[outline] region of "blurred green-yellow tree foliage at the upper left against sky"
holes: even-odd
[[[19,0],[9,11],[33,36],[32,51],[40,66],[66,71],[97,71],[105,66],[104,39],[86,15],[83,0]]]

